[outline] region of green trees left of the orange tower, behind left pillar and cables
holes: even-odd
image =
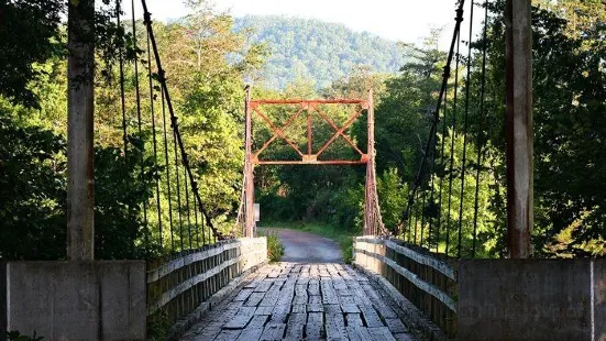
[[[203,2],[192,1],[191,4],[192,14],[186,20],[168,25],[156,23],[154,29],[164,67],[170,75],[170,91],[180,116],[180,129],[209,219],[217,221],[220,228],[229,229],[231,223],[227,218],[238,205],[243,160],[239,112],[242,79],[260,65],[263,51],[255,46],[245,48],[245,37],[232,32],[230,16],[214,14]],[[9,8],[11,6],[14,7],[11,10],[22,7],[20,2],[10,3]],[[166,252],[172,246],[169,243],[163,248],[158,244],[158,221],[168,220],[166,177],[162,177],[175,164],[167,164],[159,157],[156,160],[153,154],[152,102],[157,110],[154,121],[157,124],[156,138],[161,141],[158,155],[169,150],[172,157],[173,141],[169,140],[168,145],[162,143],[158,129],[162,99],[157,84],[152,84],[152,95],[147,88],[152,58],[142,48],[146,37],[144,26],[137,21],[136,35],[133,35],[132,26],[126,25],[124,30],[112,24],[115,19],[112,13],[111,6],[99,9],[96,22],[97,33],[103,38],[96,37],[95,252],[98,258],[144,257]],[[53,23],[51,29],[54,31],[48,35],[64,48],[63,26],[58,19]],[[27,25],[23,21],[20,24]],[[20,31],[11,34],[19,37]],[[25,40],[30,31],[23,30],[21,38]],[[134,37],[137,38],[136,46]],[[55,43],[45,48],[38,52],[32,46],[27,51],[31,58],[13,61],[37,70],[20,75],[23,77],[20,81],[32,89],[31,95],[19,98],[11,87],[3,87],[0,94],[0,258],[65,257],[66,61],[63,54],[51,53]],[[110,52],[111,48],[114,51]],[[9,54],[10,50],[0,52],[2,58],[11,58]],[[228,63],[227,55],[234,54],[242,56],[240,62]],[[122,136],[119,55],[125,62],[126,150]],[[134,73],[134,59],[139,63],[139,75]],[[13,73],[14,69],[16,67],[13,67]],[[2,80],[9,79],[4,77]],[[141,133],[137,129],[140,114]],[[165,121],[164,124],[168,127],[170,123]],[[180,166],[180,161],[177,163]],[[183,186],[184,168],[179,167],[179,172]],[[175,176],[173,172],[173,184]],[[156,184],[162,197],[161,216],[155,209]],[[179,209],[185,211],[186,198],[185,194],[181,195],[183,207]],[[176,202],[174,188],[172,197]],[[187,218],[181,231],[187,231],[192,223],[194,217],[189,219],[188,215]],[[165,241],[170,240],[168,229],[163,234]],[[188,248],[189,235],[181,232],[175,243],[179,249],[181,245]]]

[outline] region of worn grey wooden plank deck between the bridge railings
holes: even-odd
[[[251,275],[181,340],[414,340],[368,279],[337,263],[280,263]]]

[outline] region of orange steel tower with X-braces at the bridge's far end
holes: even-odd
[[[348,120],[339,127],[329,114],[322,111],[319,106],[324,105],[355,105],[360,109],[352,112]],[[265,106],[295,106],[296,111],[290,113],[288,119],[282,125],[277,125],[264,112]],[[246,88],[245,99],[245,150],[246,158],[244,164],[244,186],[242,191],[241,210],[236,219],[236,226],[240,224],[243,234],[254,235],[254,168],[260,165],[366,165],[365,184],[365,206],[364,206],[364,234],[385,233],[385,227],[381,219],[381,209],[376,191],[375,174],[375,139],[374,139],[374,109],[373,92],[368,91],[367,99],[287,99],[287,100],[252,100],[250,88]],[[351,136],[345,131],[350,128],[366,110],[367,112],[367,146],[366,153],[360,150]],[[311,114],[318,113],[333,130],[332,136],[318,150],[312,147],[313,127]],[[293,139],[288,136],[286,130],[295,122],[297,118],[307,114],[307,151],[301,151]],[[253,116],[257,116],[261,121],[267,125],[273,135],[266,140],[258,150],[253,150]],[[360,156],[357,160],[319,160],[337,139],[342,138],[348,145]],[[298,160],[263,160],[262,153],[276,140],[283,140],[298,155]]]

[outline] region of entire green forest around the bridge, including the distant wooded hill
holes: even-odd
[[[417,196],[423,199],[412,207],[421,212],[416,217],[441,221],[441,234],[425,228],[431,222],[405,212],[447,59],[437,40],[450,32],[436,32],[423,44],[400,48],[340,25],[280,18],[236,20],[216,12],[207,1],[189,3],[190,15],[154,22],[154,31],[199,193],[218,230],[232,232],[238,215],[247,82],[254,80],[252,96],[257,99],[366,98],[372,88],[377,188],[386,228],[405,240],[412,240],[412,233],[415,241],[431,239],[425,246],[450,256],[506,256],[504,1],[488,2],[486,33],[473,36],[469,50],[461,46],[464,57],[452,70],[438,125],[439,152],[422,175]],[[483,14],[486,9],[475,10]],[[532,10],[535,256],[604,256],[606,6],[599,0],[535,0]],[[96,257],[104,260],[184,250],[195,238],[156,229],[168,219],[168,211],[181,212],[191,194],[177,202],[174,190],[164,185],[166,178],[178,182],[183,172],[178,166],[177,172],[167,172],[173,169],[168,158],[152,153],[173,153],[166,143],[170,136],[163,141],[158,135],[156,143],[164,98],[154,82],[143,22],[133,24],[123,18],[126,28],[120,29],[118,12],[108,1],[96,13],[95,238]],[[65,4],[58,0],[0,4],[0,260],[66,256],[64,13]],[[277,35],[289,38],[274,46],[264,43],[275,43]],[[148,98],[139,101],[140,91]],[[155,119],[148,114],[153,106]],[[267,112],[279,124],[287,109]],[[339,124],[350,113],[344,107],[331,110]],[[139,119],[141,112],[145,114]],[[313,119],[318,121],[313,139],[321,144],[333,132]],[[362,150],[364,120],[346,131]],[[255,128],[258,146],[271,133],[261,122]],[[125,139],[123,130],[129,131]],[[302,141],[304,136],[296,143]],[[343,141],[327,153],[352,157]],[[293,157],[278,142],[264,156]],[[364,176],[360,166],[257,167],[261,223],[307,221],[345,235],[359,234]],[[188,223],[192,224],[187,219],[181,222],[181,229]],[[459,238],[459,250],[444,249],[449,235]],[[158,238],[172,240],[172,245],[155,243]]]

